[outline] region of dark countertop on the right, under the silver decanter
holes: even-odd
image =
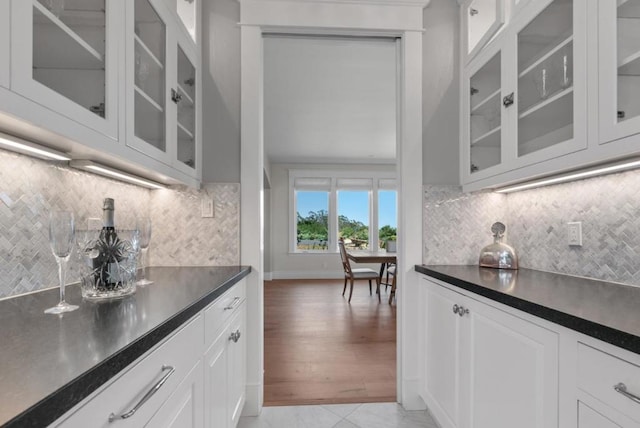
[[[415,270],[640,354],[640,287],[532,269],[416,265]]]

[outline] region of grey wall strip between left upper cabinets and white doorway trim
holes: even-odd
[[[202,5],[202,181],[240,182],[240,5]]]

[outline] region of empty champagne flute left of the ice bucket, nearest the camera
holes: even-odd
[[[71,211],[52,211],[49,215],[49,245],[58,263],[58,279],[60,281],[60,302],[46,309],[45,314],[61,314],[78,309],[64,299],[64,286],[67,276],[67,262],[71,256],[75,241],[75,223]]]

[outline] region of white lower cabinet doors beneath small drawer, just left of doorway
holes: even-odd
[[[240,304],[205,354],[205,424],[233,428],[245,401],[246,305]]]

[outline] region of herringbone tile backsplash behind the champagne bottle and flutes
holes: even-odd
[[[215,217],[201,218],[201,197],[213,196]],[[208,184],[201,191],[151,191],[65,166],[0,150],[0,297],[58,284],[49,249],[51,210],[71,210],[77,228],[102,217],[102,200],[116,204],[116,227],[136,215],[153,223],[152,266],[239,263],[239,185]],[[67,282],[79,280],[75,254]]]

